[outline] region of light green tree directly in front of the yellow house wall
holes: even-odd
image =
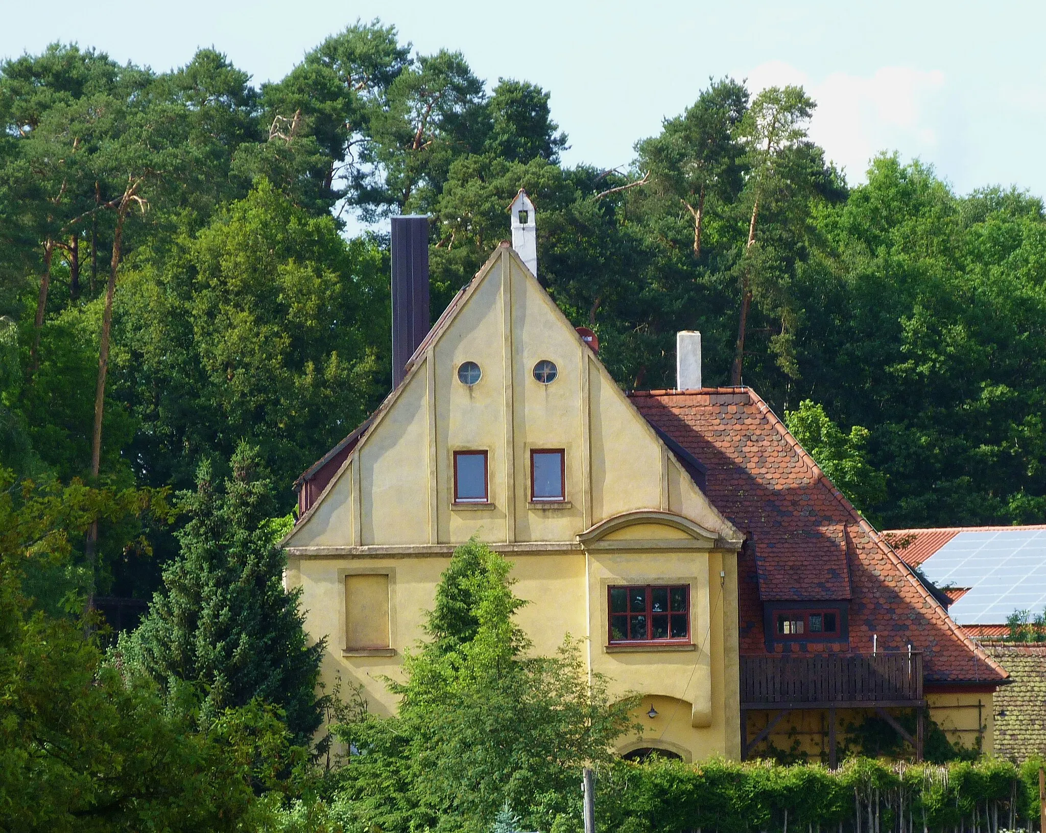
[[[526,829],[576,821],[582,767],[612,758],[635,701],[610,701],[569,638],[555,657],[528,657],[514,622],[524,604],[511,565],[477,541],[459,546],[428,616],[432,637],[405,657],[396,717],[342,724],[359,755],[338,794],[384,830],[486,830],[507,802]],[[562,823],[561,823],[562,824]]]

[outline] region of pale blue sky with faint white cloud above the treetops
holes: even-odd
[[[811,136],[850,184],[895,151],[962,194],[1046,196],[1041,2],[0,0],[0,58],[63,41],[165,70],[213,46],[260,84],[373,18],[418,52],[460,50],[490,86],[549,90],[568,164],[628,165],[709,76],[732,75],[753,91],[801,84],[818,105]]]

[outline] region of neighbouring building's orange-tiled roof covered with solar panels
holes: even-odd
[[[999,625],[1046,607],[1046,525],[954,526],[884,533],[897,555],[950,595],[960,625]]]

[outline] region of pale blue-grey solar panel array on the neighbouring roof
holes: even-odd
[[[1046,530],[959,533],[923,562],[938,587],[970,587],[949,608],[959,625],[1000,625],[1046,608]]]

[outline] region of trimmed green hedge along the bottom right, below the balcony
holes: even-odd
[[[847,760],[780,766],[654,759],[598,773],[615,833],[999,833],[1039,830],[1041,759],[948,765]]]

